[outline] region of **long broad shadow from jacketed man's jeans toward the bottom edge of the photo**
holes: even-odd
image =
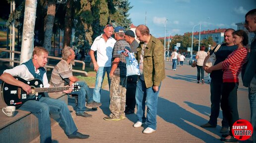
[[[199,125],[201,123],[206,123],[207,120],[180,107],[176,103],[159,97],[157,115],[163,118],[165,121],[175,124],[192,136],[201,139],[205,143],[220,142],[219,139],[216,139],[215,137],[198,129],[200,128]]]

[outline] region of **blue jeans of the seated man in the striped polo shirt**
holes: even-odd
[[[87,103],[93,102],[92,94],[90,93],[88,85],[84,81],[76,81],[80,85],[80,89],[78,91],[72,91],[70,94],[77,94],[77,109],[76,113],[83,113],[85,111],[85,98],[87,99]]]

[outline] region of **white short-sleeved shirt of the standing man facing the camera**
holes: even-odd
[[[112,51],[115,43],[116,40],[113,37],[110,37],[106,42],[102,34],[95,38],[91,50],[97,51],[97,64],[99,67],[111,67]]]

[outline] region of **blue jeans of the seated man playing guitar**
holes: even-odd
[[[40,143],[52,142],[50,113],[59,115],[59,124],[64,129],[64,133],[67,136],[77,131],[69,109],[64,101],[41,97],[39,101],[29,100],[25,102],[19,109],[30,111],[38,118]]]

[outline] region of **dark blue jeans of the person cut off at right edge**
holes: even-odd
[[[249,100],[251,107],[251,123],[253,125],[254,133],[253,133],[253,141],[256,143],[256,91],[253,91],[249,87]]]

